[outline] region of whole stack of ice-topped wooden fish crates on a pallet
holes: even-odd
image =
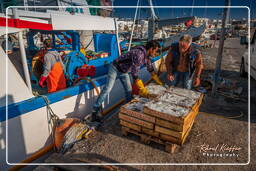
[[[189,135],[203,94],[157,85],[149,85],[148,90],[155,94],[155,98],[135,98],[121,107],[119,119],[122,133],[136,134],[145,143],[154,141],[164,144],[170,152],[168,149],[172,149],[172,145],[182,145]]]

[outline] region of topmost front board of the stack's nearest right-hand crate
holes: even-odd
[[[172,116],[172,115],[165,114],[162,112],[154,111],[154,110],[149,109],[148,107],[144,107],[143,112],[148,115],[162,118],[164,120],[168,120],[168,121],[171,121],[171,122],[177,123],[177,124],[182,124],[184,122],[182,117],[176,117],[176,116]]]

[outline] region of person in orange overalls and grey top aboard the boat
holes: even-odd
[[[64,66],[61,55],[52,49],[51,39],[46,39],[44,46],[48,51],[44,55],[44,72],[39,80],[39,85],[43,88],[46,81],[48,92],[52,93],[66,88]]]

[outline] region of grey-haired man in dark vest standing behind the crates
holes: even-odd
[[[191,89],[200,85],[203,69],[202,53],[199,45],[192,43],[192,37],[183,35],[178,43],[171,45],[165,60],[167,84],[177,86],[182,82],[183,88]]]

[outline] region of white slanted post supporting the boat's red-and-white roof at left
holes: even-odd
[[[17,9],[15,9],[15,8],[13,9],[13,14],[14,14],[14,18],[16,18],[16,19],[19,18]],[[21,54],[23,71],[24,71],[24,75],[25,75],[25,81],[26,81],[29,91],[32,92],[22,31],[18,32],[18,37],[19,37],[20,54]]]

